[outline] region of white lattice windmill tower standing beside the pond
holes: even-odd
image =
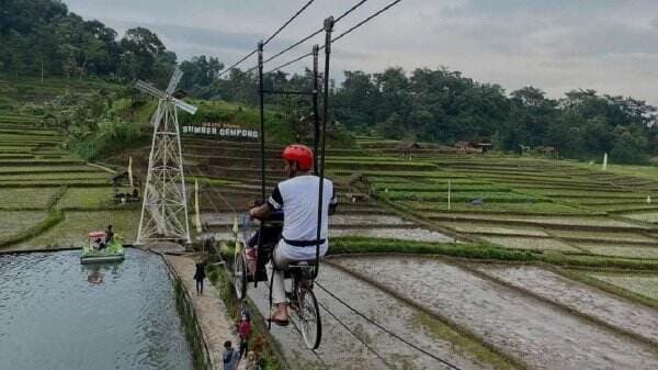
[[[158,98],[158,110],[150,121],[154,137],[137,232],[138,245],[159,240],[192,242],[178,110],[194,114],[196,106],[172,96],[181,77],[183,72],[177,67],[164,91],[141,80],[135,83],[137,89]]]

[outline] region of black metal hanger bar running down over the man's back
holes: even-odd
[[[333,16],[329,16],[325,20],[325,91],[324,92],[324,104],[322,104],[322,133],[321,133],[321,152],[316,153],[316,156],[320,157],[320,169],[319,169],[319,186],[318,186],[318,227],[316,234],[316,268],[314,271],[314,279],[318,277],[320,269],[320,237],[322,232],[322,199],[325,190],[325,152],[327,148],[327,121],[329,121],[329,59],[331,56],[331,32],[333,31]]]

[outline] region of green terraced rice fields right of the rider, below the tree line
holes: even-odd
[[[430,149],[409,160],[401,150],[393,155],[390,143],[359,142],[387,167],[362,170],[372,162],[367,155],[340,157],[353,166],[328,165],[332,175],[358,178],[362,192],[445,231],[512,249],[656,256],[658,171],[653,168],[603,171],[567,160]],[[413,169],[405,170],[407,164]]]

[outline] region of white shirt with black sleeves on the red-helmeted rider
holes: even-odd
[[[316,255],[316,237],[318,225],[318,191],[320,178],[317,176],[298,176],[280,182],[268,200],[274,210],[282,210],[284,214],[283,237],[279,244],[281,253],[290,259],[314,259]],[[325,179],[322,188],[322,225],[320,239],[320,254],[324,256],[328,249],[329,205],[337,203],[333,183]],[[285,240],[306,243],[308,246],[294,246]]]

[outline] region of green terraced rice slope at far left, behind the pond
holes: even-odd
[[[0,248],[77,247],[107,224],[132,242],[137,211],[111,203],[112,173],[71,157],[61,133],[38,126],[38,117],[0,111]]]

